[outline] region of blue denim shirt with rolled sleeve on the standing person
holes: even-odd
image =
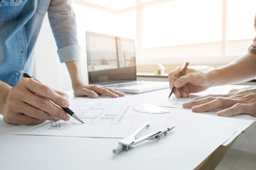
[[[60,62],[80,60],[71,0],[0,0],[1,81],[15,86],[21,69],[33,73],[33,50],[47,11]]]

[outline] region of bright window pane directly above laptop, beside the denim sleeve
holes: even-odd
[[[87,6],[73,4],[78,24],[78,42],[85,46],[85,32],[117,35],[136,39],[136,11],[110,13]]]

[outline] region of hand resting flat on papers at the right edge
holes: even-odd
[[[233,116],[242,113],[256,116],[256,88],[233,89],[225,95],[195,98],[191,102],[183,103],[183,108],[192,108],[193,112],[198,113],[223,109],[217,112],[221,116]]]

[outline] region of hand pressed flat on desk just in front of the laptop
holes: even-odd
[[[119,96],[124,96],[125,94],[120,91],[115,91],[100,85],[79,85],[74,89],[75,96],[90,96],[91,98],[98,98],[98,94],[104,94],[112,98],[117,98]]]

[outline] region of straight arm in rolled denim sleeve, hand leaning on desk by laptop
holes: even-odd
[[[70,0],[52,0],[48,8],[48,18],[58,46],[60,62],[65,62],[72,80],[75,96],[97,98],[98,94],[111,97],[124,96],[99,85],[86,85],[80,70],[80,46],[78,45],[75,13]]]

